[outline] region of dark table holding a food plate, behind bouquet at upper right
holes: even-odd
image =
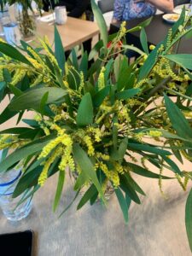
[[[130,29],[137,26],[139,23],[146,20],[146,18],[135,19],[127,21],[126,28]],[[110,27],[111,32],[119,31],[120,22],[112,24]],[[148,44],[159,44],[162,41],[172,24],[167,23],[162,19],[162,15],[154,15],[151,23],[145,27],[145,32],[147,33]],[[140,32],[131,32],[127,34],[126,40],[127,44],[134,44],[138,48],[142,49],[140,44]],[[179,53],[191,54],[192,53],[192,38],[186,39],[182,38],[181,43],[178,48]]]

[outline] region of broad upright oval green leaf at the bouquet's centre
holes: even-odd
[[[93,122],[93,105],[90,97],[90,93],[86,93],[80,102],[78,114],[77,114],[77,125],[85,126],[91,125]]]

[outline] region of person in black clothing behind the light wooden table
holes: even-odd
[[[90,0],[43,0],[44,11],[55,9],[55,6],[66,6],[67,16],[93,21],[93,14],[90,7]],[[84,51],[90,53],[91,39],[83,43]],[[68,55],[68,53],[67,53]]]

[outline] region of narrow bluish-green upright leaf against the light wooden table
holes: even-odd
[[[55,58],[61,68],[62,74],[64,74],[66,56],[62,45],[60,34],[55,26]]]

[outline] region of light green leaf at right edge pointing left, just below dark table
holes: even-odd
[[[177,54],[177,55],[164,55],[164,57],[170,61],[174,61],[181,67],[185,67],[192,70],[192,55]]]

